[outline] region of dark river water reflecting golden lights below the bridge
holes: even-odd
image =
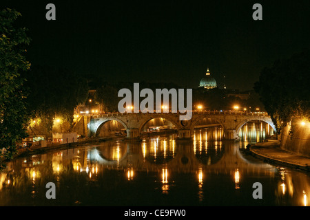
[[[251,157],[242,132],[236,142],[209,128],[193,142],[159,135],[19,157],[0,173],[0,206],[309,206],[309,174]]]

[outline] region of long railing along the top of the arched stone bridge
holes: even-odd
[[[253,116],[268,116],[268,113],[266,112],[249,112],[249,111],[192,111],[193,114],[198,114],[198,115],[253,115]],[[177,113],[172,113],[172,112],[154,112],[154,113],[160,113],[160,114],[177,114],[177,115],[182,115],[183,113],[177,112]],[[119,115],[134,115],[134,114],[154,114],[152,112],[147,112],[147,113],[134,113],[134,112],[115,112],[115,113],[101,113],[101,114],[89,114],[92,115],[92,118],[101,118],[101,117],[115,117]]]

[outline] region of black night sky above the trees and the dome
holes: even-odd
[[[45,5],[56,5],[56,21]],[[254,21],[254,3],[262,21]],[[310,47],[310,1],[3,1],[29,29],[33,65],[107,81],[252,89],[263,67]]]

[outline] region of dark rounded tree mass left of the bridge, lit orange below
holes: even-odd
[[[88,95],[87,80],[68,69],[34,66],[26,78],[32,118],[39,118],[48,131],[56,117],[72,122],[74,107]]]

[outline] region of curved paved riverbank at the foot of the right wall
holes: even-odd
[[[280,141],[268,140],[249,147],[249,153],[269,164],[278,164],[310,172],[310,157],[298,155],[280,148]]]

